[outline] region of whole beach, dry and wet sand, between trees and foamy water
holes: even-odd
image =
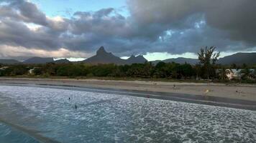
[[[216,83],[109,81],[99,79],[0,78],[0,85],[80,88],[137,97],[256,110],[256,87]],[[173,85],[175,84],[175,88]],[[205,90],[208,90],[206,92]],[[237,93],[241,90],[242,93]]]

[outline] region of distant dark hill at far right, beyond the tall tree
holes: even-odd
[[[237,53],[224,56],[217,61],[219,64],[256,64],[256,53]]]

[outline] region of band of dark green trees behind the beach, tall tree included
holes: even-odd
[[[223,66],[216,64],[219,52],[214,46],[205,47],[198,52],[199,63],[191,65],[188,63],[165,63],[152,64],[116,65],[116,64],[18,64],[9,65],[0,70],[0,76],[43,76],[43,77],[132,77],[132,78],[156,78],[156,79],[209,79],[227,81],[227,69],[242,68],[242,79],[255,81],[256,66],[237,66],[235,64]],[[33,69],[29,73],[29,69]]]

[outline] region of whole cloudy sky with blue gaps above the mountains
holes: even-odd
[[[0,59],[256,51],[255,0],[0,0]]]

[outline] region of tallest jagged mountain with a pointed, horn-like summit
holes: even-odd
[[[91,56],[83,62],[86,64],[125,64],[125,59],[114,56],[111,52],[106,52],[104,47],[101,46],[95,56]]]

